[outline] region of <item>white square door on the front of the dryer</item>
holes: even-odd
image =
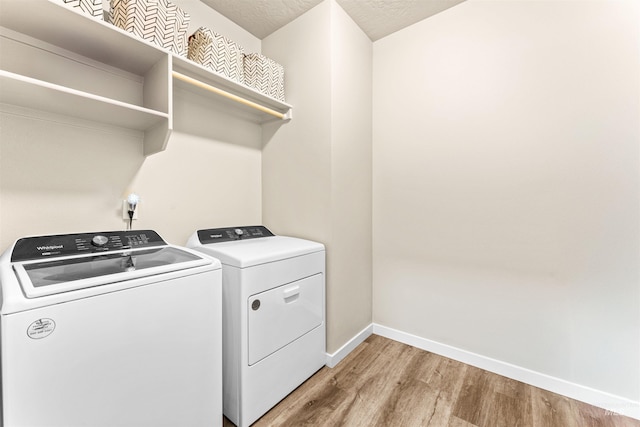
[[[249,365],[322,324],[323,289],[316,274],[249,297]]]

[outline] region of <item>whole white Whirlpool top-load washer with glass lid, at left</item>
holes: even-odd
[[[222,425],[221,279],[151,230],[18,240],[0,257],[0,424]]]

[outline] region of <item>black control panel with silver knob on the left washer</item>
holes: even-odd
[[[166,245],[153,230],[107,231],[25,237],[16,242],[12,262]]]

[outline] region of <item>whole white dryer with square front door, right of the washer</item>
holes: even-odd
[[[326,363],[324,245],[250,226],[187,246],[222,262],[223,412],[246,427]]]

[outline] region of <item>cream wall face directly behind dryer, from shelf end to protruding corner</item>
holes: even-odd
[[[323,2],[266,37],[285,70],[288,123],[265,125],[263,220],[277,234],[326,243],[331,212],[330,7]]]

